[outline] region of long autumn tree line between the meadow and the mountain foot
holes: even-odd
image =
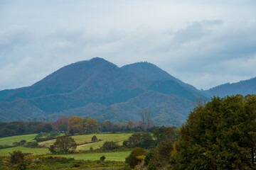
[[[149,120],[149,119],[148,119]],[[104,122],[93,118],[81,118],[71,116],[59,118],[53,123],[43,121],[14,121],[0,122],[0,137],[15,135],[26,135],[40,132],[68,132],[74,134],[90,134],[95,132],[152,132],[156,128],[153,123],[143,121],[132,121],[128,123],[112,123],[110,120]]]

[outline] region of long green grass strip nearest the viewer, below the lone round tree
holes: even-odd
[[[106,157],[106,160],[108,161],[119,161],[124,162],[125,158],[128,157],[128,155],[132,151],[122,151],[122,152],[102,152],[102,153],[86,153],[86,154],[61,154],[59,156],[61,157],[68,157],[68,158],[74,158],[77,160],[100,160],[100,157],[103,155]]]

